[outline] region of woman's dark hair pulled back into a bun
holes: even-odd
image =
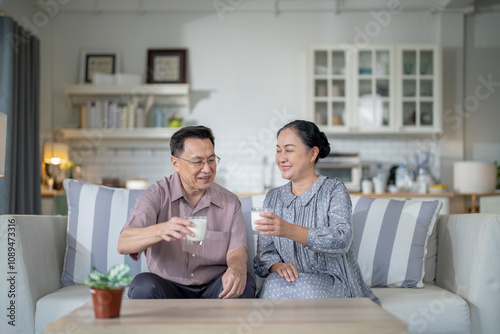
[[[316,146],[319,149],[318,156],[314,163],[318,162],[319,158],[324,158],[330,154],[330,143],[328,142],[328,138],[326,138],[323,132],[319,131],[318,126],[313,122],[303,120],[290,122],[278,131],[277,137],[279,137],[281,131],[285,129],[295,130],[302,142],[309,148]]]

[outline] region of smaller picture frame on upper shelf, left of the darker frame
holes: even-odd
[[[118,50],[82,50],[80,52],[80,83],[92,83],[94,73],[116,74],[121,66]]]

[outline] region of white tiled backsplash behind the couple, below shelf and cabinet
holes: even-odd
[[[216,182],[236,193],[259,193],[286,183],[274,164],[275,138],[258,137],[255,131],[216,133],[216,154],[221,157]],[[414,153],[432,153],[432,172],[439,179],[439,142],[403,136],[362,136],[330,138],[335,151],[359,152],[363,165],[414,165]],[[72,159],[82,166],[83,179],[100,184],[114,177],[124,184],[128,179],[147,179],[149,183],[173,172],[170,148],[165,141],[106,141],[99,145],[72,143]],[[373,175],[372,175],[373,176]]]

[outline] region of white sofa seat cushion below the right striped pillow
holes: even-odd
[[[424,289],[373,288],[382,307],[408,324],[413,333],[470,333],[467,302],[460,296],[426,283]]]

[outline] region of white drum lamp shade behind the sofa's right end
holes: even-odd
[[[453,166],[453,188],[461,194],[488,194],[495,191],[497,167],[480,161],[458,161]]]

